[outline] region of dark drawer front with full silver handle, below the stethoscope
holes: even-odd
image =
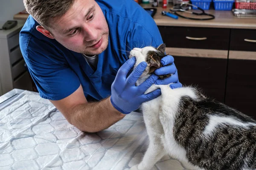
[[[158,26],[167,47],[228,50],[230,29]]]

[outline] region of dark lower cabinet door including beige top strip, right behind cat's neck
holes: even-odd
[[[224,102],[228,51],[166,48],[166,53],[174,57],[183,85],[197,86],[206,96]]]

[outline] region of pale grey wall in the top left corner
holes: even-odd
[[[23,9],[23,0],[0,0],[0,22],[13,20],[13,15]]]

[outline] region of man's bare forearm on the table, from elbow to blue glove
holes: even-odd
[[[113,107],[110,97],[77,105],[71,108],[71,112],[70,123],[85,132],[104,130],[125,116]]]

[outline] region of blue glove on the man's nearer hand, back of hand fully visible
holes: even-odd
[[[144,94],[145,91],[158,79],[152,74],[141,85],[135,86],[137,79],[147,67],[146,62],[141,62],[127,77],[133,68],[136,58],[128,59],[118,70],[116,78],[111,85],[111,104],[121,113],[128,114],[140,108],[143,102],[149,101],[161,95],[160,89]],[[127,78],[126,78],[127,77]]]

